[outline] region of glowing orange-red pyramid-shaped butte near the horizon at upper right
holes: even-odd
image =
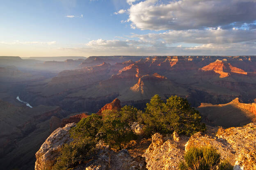
[[[219,76],[220,78],[227,77],[231,73],[247,75],[247,72],[245,72],[244,70],[237,67],[233,67],[230,63],[227,63],[226,61],[218,60],[218,59],[215,62],[204,66],[203,68],[201,68],[201,70],[214,71],[215,73],[220,74]]]

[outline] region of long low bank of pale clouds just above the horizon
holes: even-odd
[[[95,43],[98,41],[97,43]],[[121,45],[124,43],[125,45]],[[91,52],[95,55],[256,55],[256,44],[202,44],[192,47],[169,47],[165,42],[133,40],[94,40],[85,47],[61,48],[60,50]]]

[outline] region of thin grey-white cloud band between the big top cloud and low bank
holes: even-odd
[[[165,42],[177,43],[198,43],[198,44],[224,44],[247,42],[256,40],[256,29],[243,30],[243,29],[191,29],[191,30],[170,30],[160,34],[144,34],[131,36],[141,40],[164,40]]]

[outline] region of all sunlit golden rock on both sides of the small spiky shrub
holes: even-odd
[[[143,154],[149,170],[177,170],[180,160],[189,148],[212,146],[237,170],[256,170],[256,123],[249,123],[238,128],[215,128],[207,126],[203,134],[197,132],[190,138],[179,136],[175,141],[172,136],[156,133],[152,143]]]

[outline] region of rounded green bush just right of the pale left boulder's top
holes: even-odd
[[[87,118],[81,119],[69,133],[74,139],[86,137],[95,138],[102,126],[102,116],[99,116],[98,114],[91,114]]]

